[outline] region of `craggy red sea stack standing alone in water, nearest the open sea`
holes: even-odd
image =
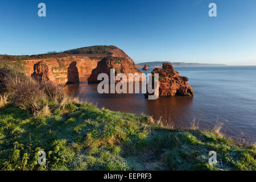
[[[159,97],[193,96],[193,89],[188,84],[188,78],[179,76],[179,72],[174,70],[171,63],[163,63],[163,69],[155,68],[151,72],[152,77],[155,73],[159,74]],[[148,95],[151,94],[145,94],[146,97]]]

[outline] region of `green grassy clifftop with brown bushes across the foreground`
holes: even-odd
[[[1,170],[256,169],[253,146],[214,131],[168,129],[145,115],[98,109],[21,73],[5,75],[2,83]],[[208,163],[209,151],[217,152],[216,165]]]

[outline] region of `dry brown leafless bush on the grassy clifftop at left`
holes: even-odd
[[[75,111],[80,101],[77,98],[68,97],[63,87],[51,81],[37,81],[19,72],[7,73],[3,79],[5,94],[0,97],[0,106],[10,103],[19,106],[20,109],[31,113],[45,115],[58,109]],[[8,96],[8,97],[7,97]]]

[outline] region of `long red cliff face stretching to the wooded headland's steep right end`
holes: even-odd
[[[24,60],[23,62],[27,76],[32,76],[38,80],[53,81],[57,84],[77,83],[79,77],[90,76],[92,70],[97,67],[98,61],[106,56],[112,56],[116,59],[123,57],[126,60],[121,66],[123,71],[133,73],[135,70],[133,68],[134,61],[121,49],[112,47],[108,53],[77,53],[67,57]],[[117,65],[115,67],[121,69]]]

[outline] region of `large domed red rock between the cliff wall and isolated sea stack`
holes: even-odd
[[[92,75],[88,78],[88,82],[101,82],[97,80],[100,73],[106,73],[110,77],[110,69],[115,69],[115,75],[118,73],[125,73],[127,81],[129,81],[129,73],[138,73],[141,76],[141,71],[139,71],[134,63],[125,57],[104,57],[98,62],[98,65],[92,71]],[[116,81],[118,82],[118,81]]]

